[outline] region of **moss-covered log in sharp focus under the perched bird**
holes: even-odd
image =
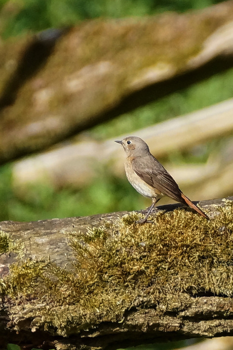
[[[0,344],[117,349],[233,335],[233,197],[0,223]]]

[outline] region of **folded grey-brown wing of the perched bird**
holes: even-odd
[[[140,157],[133,159],[132,167],[147,185],[158,189],[178,202],[183,202],[179,186],[163,165],[152,155],[147,159]]]

